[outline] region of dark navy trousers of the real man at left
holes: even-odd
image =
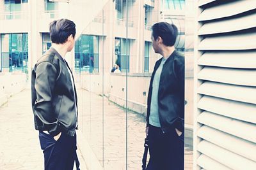
[[[77,169],[79,169],[76,134],[68,136],[62,132],[58,141],[55,141],[50,134],[40,131],[39,139],[44,152],[45,170],[73,170],[75,160]]]

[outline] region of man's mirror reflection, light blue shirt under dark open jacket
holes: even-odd
[[[147,127],[150,160],[147,170],[184,169],[184,57],[174,48],[177,27],[152,26],[157,60],[148,92]]]

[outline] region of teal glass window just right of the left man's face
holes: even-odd
[[[99,73],[99,36],[81,35],[75,45],[77,73]]]

